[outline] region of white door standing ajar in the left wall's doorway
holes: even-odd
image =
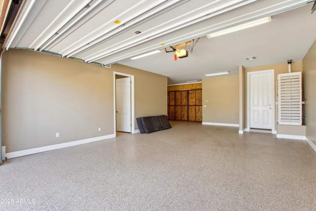
[[[116,80],[117,131],[131,132],[130,77]]]

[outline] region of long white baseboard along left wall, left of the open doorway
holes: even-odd
[[[33,149],[26,149],[26,150],[21,150],[21,151],[16,151],[16,152],[9,152],[6,153],[5,156],[10,159],[10,158],[16,158],[16,157],[21,157],[21,156],[26,156],[26,155],[32,155],[40,152],[46,152],[54,149],[61,149],[65,147],[71,147],[71,146],[76,146],[80,144],[86,144],[94,141],[101,141],[104,139],[109,139],[109,138],[115,138],[115,134],[110,134],[110,135],[103,135],[99,137],[94,137],[94,138],[87,138],[87,139],[82,139],[78,141],[71,141],[71,142],[66,142],[62,144],[54,144],[54,145],[49,145],[49,146],[44,146],[44,147],[38,147],[38,148],[33,148]]]

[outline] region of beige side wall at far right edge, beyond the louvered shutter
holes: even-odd
[[[306,118],[306,137],[316,145],[316,41],[303,59],[303,106]]]

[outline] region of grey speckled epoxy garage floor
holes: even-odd
[[[14,203],[0,210],[316,210],[316,152],[305,141],[170,123],[8,160],[0,199]]]

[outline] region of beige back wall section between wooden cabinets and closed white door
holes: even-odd
[[[238,80],[238,75],[202,80],[203,122],[239,124]]]

